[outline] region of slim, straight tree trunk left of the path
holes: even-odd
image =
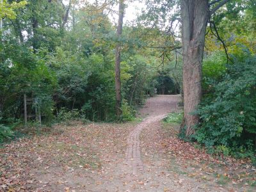
[[[120,62],[121,62],[121,44],[120,37],[123,30],[123,19],[124,19],[124,0],[119,1],[119,10],[118,10],[118,26],[117,26],[117,37],[118,43],[116,45],[116,61],[115,61],[115,88],[116,88],[116,115],[120,116],[122,114],[121,109],[121,79],[120,79]]]

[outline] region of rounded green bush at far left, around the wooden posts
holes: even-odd
[[[1,42],[0,46],[0,111],[6,118],[19,118],[24,93],[38,100],[37,107],[45,119],[52,118],[52,97],[56,78],[44,60],[17,41]],[[33,106],[35,107],[35,106]]]

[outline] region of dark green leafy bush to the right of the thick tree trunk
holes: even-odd
[[[256,141],[256,57],[247,53],[243,62],[227,65],[227,74],[213,84],[196,114],[201,124],[195,139],[218,152],[243,154]]]

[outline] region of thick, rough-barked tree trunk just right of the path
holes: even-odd
[[[198,124],[197,115],[191,115],[202,96],[202,60],[205,44],[205,29],[210,12],[207,0],[182,0],[182,48],[184,120],[186,136],[193,134]]]

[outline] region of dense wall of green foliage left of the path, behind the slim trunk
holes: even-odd
[[[57,120],[72,120],[71,113],[76,111],[83,111],[83,119],[115,120],[118,41],[122,44],[123,120],[131,120],[133,109],[146,95],[154,95],[161,51],[141,49],[146,39],[135,36],[141,28],[125,26],[124,35],[117,39],[106,13],[88,12],[77,1],[68,8],[61,1],[28,0],[25,9],[13,2],[16,17],[4,17],[0,42],[0,112],[4,119],[23,119],[26,93],[33,97],[29,114],[40,109],[43,124],[54,115]],[[153,31],[154,35],[161,33]]]

